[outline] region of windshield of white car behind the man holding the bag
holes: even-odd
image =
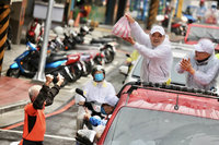
[[[171,69],[171,84],[175,84],[175,85],[185,85],[185,73],[180,74],[175,71],[175,65],[176,63],[180,62],[182,58],[173,58],[173,65]],[[137,62],[134,72],[132,72],[132,76],[134,77],[140,77],[140,68],[141,68],[141,63],[142,63],[142,57],[139,59],[139,61]]]

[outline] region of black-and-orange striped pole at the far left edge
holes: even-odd
[[[10,0],[0,2],[0,76],[4,56],[4,44],[8,37]]]

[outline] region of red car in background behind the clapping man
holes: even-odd
[[[200,38],[209,38],[216,45],[216,50],[219,51],[219,26],[207,24],[189,24],[187,27],[185,44],[194,45]]]

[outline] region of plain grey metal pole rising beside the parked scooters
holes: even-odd
[[[47,9],[47,19],[46,19],[46,26],[45,26],[45,34],[44,34],[44,43],[41,50],[41,58],[39,58],[39,64],[38,64],[38,72],[34,76],[33,80],[45,82],[45,65],[46,65],[46,56],[47,56],[47,46],[48,46],[48,35],[51,24],[51,12],[54,7],[54,0],[49,0],[48,2],[48,9]]]

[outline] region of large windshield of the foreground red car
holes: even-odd
[[[218,145],[219,121],[123,107],[104,145]]]

